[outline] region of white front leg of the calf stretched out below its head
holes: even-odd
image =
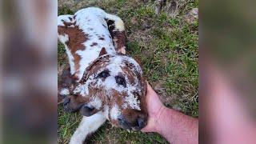
[[[104,122],[106,122],[106,118],[101,111],[90,117],[83,117],[78,129],[75,130],[70,139],[70,144],[82,144],[87,135],[98,130],[98,128],[102,126]]]

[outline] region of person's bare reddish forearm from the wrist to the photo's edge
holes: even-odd
[[[158,118],[155,122],[155,132],[165,137],[168,142],[198,143],[198,119],[164,106]]]

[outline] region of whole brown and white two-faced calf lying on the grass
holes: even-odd
[[[83,115],[70,143],[82,143],[106,120],[128,130],[146,126],[146,81],[138,62],[126,55],[121,18],[95,7],[60,15],[58,39],[70,63],[59,94],[66,111]]]

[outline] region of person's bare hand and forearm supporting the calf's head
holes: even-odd
[[[167,108],[147,83],[147,126],[143,132],[161,134],[170,143],[198,143],[198,119]]]

